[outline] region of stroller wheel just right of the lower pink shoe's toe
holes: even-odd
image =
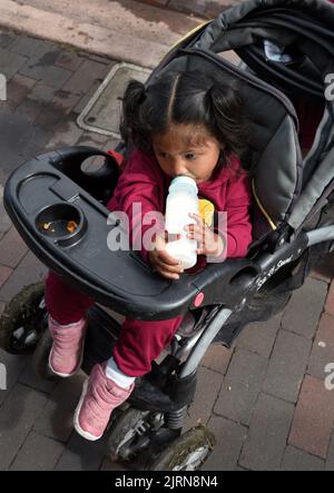
[[[132,461],[147,446],[146,432],[151,427],[150,412],[128,407],[115,412],[108,436],[108,455],[111,462]]]

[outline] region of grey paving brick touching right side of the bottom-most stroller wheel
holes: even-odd
[[[247,428],[220,416],[210,417],[207,427],[216,437],[216,445],[202,471],[235,471]]]

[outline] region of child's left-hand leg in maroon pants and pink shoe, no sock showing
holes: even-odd
[[[47,278],[45,298],[53,339],[49,366],[56,375],[72,376],[82,363],[86,312],[94,300],[68,286],[53,273]]]

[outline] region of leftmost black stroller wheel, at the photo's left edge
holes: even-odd
[[[43,283],[23,287],[0,317],[0,347],[11,354],[32,352],[43,331]]]

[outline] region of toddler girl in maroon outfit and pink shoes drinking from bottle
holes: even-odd
[[[209,228],[199,215],[191,217],[195,224],[187,230],[198,243],[198,265],[206,256],[219,262],[246,255],[252,225],[249,175],[243,169],[248,137],[244,109],[236,82],[224,75],[173,71],[148,88],[138,81],[129,83],[121,134],[131,151],[108,208],[128,215],[134,224],[131,245],[140,230],[137,226],[143,236],[151,227],[143,224],[147,213],[165,213],[171,179],[187,176],[196,180],[200,199],[215,211],[227,213],[226,234]],[[138,217],[132,217],[132,203],[141,205]],[[164,225],[153,245],[143,246],[141,255],[155,275],[177,282],[183,274],[166,252]],[[50,273],[46,303],[53,339],[49,365],[57,375],[69,377],[81,365],[86,313],[94,299]],[[102,436],[111,411],[129,397],[135,378],[150,372],[151,362],[170,343],[181,321],[181,316],[158,322],[126,318],[112,355],[95,365],[84,384],[75,413],[80,435],[87,440]]]

